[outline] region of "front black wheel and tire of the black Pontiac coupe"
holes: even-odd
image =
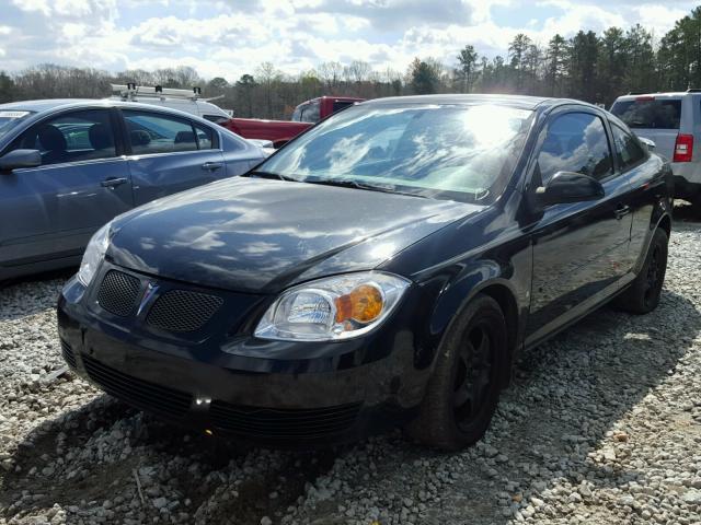
[[[502,308],[492,298],[476,295],[448,328],[409,435],[445,451],[479,441],[496,409],[507,349]]]

